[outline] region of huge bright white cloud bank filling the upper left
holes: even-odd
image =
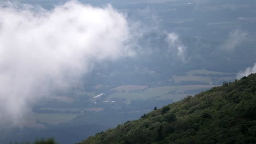
[[[94,62],[133,55],[130,38],[125,17],[109,5],[71,1],[38,10],[2,3],[0,122],[18,124],[31,104],[75,85]]]

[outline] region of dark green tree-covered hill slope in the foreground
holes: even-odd
[[[256,74],[188,96],[82,143],[256,143]]]

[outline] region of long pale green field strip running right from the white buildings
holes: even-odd
[[[193,93],[185,93],[187,91],[196,91],[200,89],[210,89],[216,85],[188,85],[188,86],[166,86],[149,88],[144,92],[117,92],[109,95],[106,100],[114,98],[124,98],[126,100],[146,100],[146,99],[173,99],[180,100],[187,95]]]

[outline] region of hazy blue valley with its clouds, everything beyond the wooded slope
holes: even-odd
[[[256,2],[0,1],[0,143],[75,143],[256,73]]]

